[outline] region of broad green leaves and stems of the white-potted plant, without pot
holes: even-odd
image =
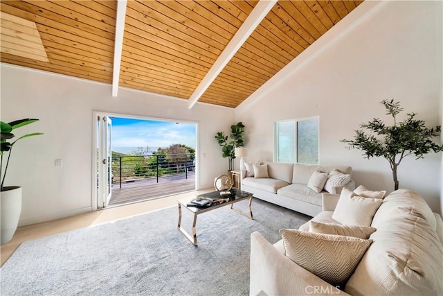
[[[19,137],[18,139],[15,139],[15,141],[12,141],[12,139],[15,138],[15,134],[12,134],[12,131],[16,128],[21,128],[24,125],[28,125],[30,123],[34,123],[35,121],[38,121],[38,119],[20,119],[17,121],[12,121],[10,123],[4,123],[3,121],[0,121],[0,177],[1,177],[1,185],[0,185],[0,191],[3,191],[6,173],[8,172],[8,165],[9,160],[12,153],[12,148],[17,143],[17,141],[37,136],[39,134],[43,134],[42,132],[33,132],[31,134],[24,134],[23,136]],[[8,160],[6,161],[5,171],[3,173],[3,176],[1,176],[1,173],[3,172],[3,156],[5,153],[8,153]]]

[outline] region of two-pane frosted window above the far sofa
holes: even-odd
[[[318,117],[275,123],[275,161],[318,164]]]

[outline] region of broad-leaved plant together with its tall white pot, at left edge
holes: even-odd
[[[4,186],[6,173],[8,173],[8,165],[11,157],[12,148],[17,141],[37,136],[42,132],[33,132],[31,134],[24,134],[23,136],[15,139],[15,134],[12,134],[12,130],[20,128],[24,125],[34,123],[38,119],[20,119],[12,121],[10,123],[4,123],[0,121],[0,211],[1,211],[1,239],[0,244],[8,243],[14,236],[15,230],[19,223],[21,213],[21,186]],[[3,156],[8,153],[8,159],[6,160],[6,166],[4,166],[3,172]]]

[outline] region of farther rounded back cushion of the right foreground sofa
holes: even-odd
[[[410,214],[424,218],[432,229],[437,228],[435,216],[426,201],[414,191],[406,189],[394,191],[384,198],[383,204],[374,215],[371,226],[378,228],[380,223],[395,218],[399,214]]]

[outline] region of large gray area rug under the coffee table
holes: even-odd
[[[250,234],[275,243],[307,220],[259,200],[253,214],[199,215],[198,247],[177,229],[177,207],[28,241],[1,268],[1,295],[248,295]],[[192,233],[186,209],[182,222]]]

